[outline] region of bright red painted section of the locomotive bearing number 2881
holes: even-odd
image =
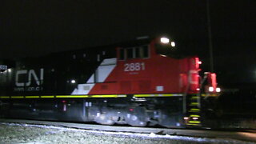
[[[118,60],[117,66],[104,83],[96,83],[89,94],[166,94],[198,93],[199,58],[168,58],[156,54],[154,40],[150,43],[150,58]],[[117,58],[119,57],[117,48]],[[131,63],[139,70],[125,71]],[[144,69],[142,66],[144,65]],[[102,89],[102,87],[105,87]],[[107,89],[106,89],[107,87]]]

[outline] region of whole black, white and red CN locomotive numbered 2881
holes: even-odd
[[[168,41],[167,41],[168,40]],[[216,75],[176,54],[168,38],[140,39],[23,58],[0,74],[6,117],[200,126],[202,96],[217,96]],[[216,91],[217,90],[217,91]]]

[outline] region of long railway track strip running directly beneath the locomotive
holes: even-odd
[[[5,119],[0,118],[0,123],[25,123],[46,126],[62,126],[66,128],[76,128],[82,130],[108,131],[108,132],[129,132],[138,134],[162,134],[178,135],[197,138],[223,138],[240,140],[246,142],[256,142],[255,130],[229,131],[229,130],[194,130],[194,129],[167,129],[151,127],[130,127],[130,126],[102,126],[95,124],[83,124],[74,122],[48,122],[22,119]]]

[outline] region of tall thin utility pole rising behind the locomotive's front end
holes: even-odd
[[[208,40],[209,40],[209,53],[210,53],[210,71],[214,72],[214,54],[213,54],[213,42],[210,26],[210,0],[206,0],[206,10],[207,10],[207,30],[208,30]]]

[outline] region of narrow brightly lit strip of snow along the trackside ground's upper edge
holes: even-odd
[[[180,136],[180,135],[170,135],[170,134],[139,134],[139,133],[131,133],[131,132],[113,132],[113,131],[100,131],[100,130],[81,130],[77,128],[68,128],[64,126],[47,126],[47,125],[37,125],[37,124],[21,124],[21,123],[6,123],[1,122],[3,125],[7,126],[27,126],[27,127],[39,127],[45,129],[54,129],[59,131],[78,131],[78,132],[86,132],[90,134],[111,134],[118,135],[120,137],[131,137],[131,138],[165,138],[172,140],[180,140],[186,142],[217,142],[217,143],[244,143],[243,141],[233,140],[233,139],[224,139],[224,138],[200,138],[200,137],[189,137],[189,136]],[[56,133],[55,131],[48,132],[48,134]],[[26,143],[30,144],[30,143]],[[37,144],[41,144],[40,142]]]

